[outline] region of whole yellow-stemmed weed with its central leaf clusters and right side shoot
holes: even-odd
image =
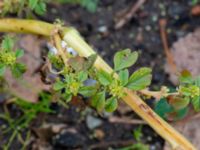
[[[21,30],[21,28],[23,28],[23,30]],[[131,52],[130,50],[118,52],[114,56],[113,70],[99,56],[97,56],[94,61],[91,61],[91,57],[95,58],[96,56],[93,54],[96,53],[83,41],[77,31],[71,27],[58,28],[55,24],[52,25],[34,20],[1,19],[0,31],[28,32],[49,36],[54,40],[58,55],[55,60],[59,58],[62,61],[61,64],[59,61],[57,62],[58,68],[56,65],[54,66],[52,64],[52,70],[50,71],[54,72],[54,70],[56,70],[54,73],[57,75],[58,81],[55,83],[54,89],[58,91],[61,98],[62,94],[64,94],[62,100],[67,99],[67,101],[70,101],[71,96],[79,94],[81,96],[90,97],[92,98],[90,104],[101,112],[103,109],[107,109],[108,111],[115,110],[117,106],[116,101],[122,99],[163,138],[169,141],[173,148],[195,149],[190,142],[156,115],[139,97],[142,94],[161,98],[173,95],[173,93],[169,93],[167,88],[157,92],[144,89],[151,81],[151,69],[149,68],[138,69],[129,77],[129,73],[126,69],[135,63],[137,60],[137,53]],[[53,35],[52,31],[54,31]],[[65,41],[70,48],[76,50],[79,56],[66,54],[66,50],[61,47],[61,40]],[[91,65],[86,65],[87,69],[85,69],[82,64],[88,63]],[[117,75],[117,73],[119,73],[119,75]],[[81,89],[85,86],[85,81],[90,78],[96,81],[95,84],[92,84],[92,86],[95,86],[94,89],[96,89],[96,91],[94,95],[88,96],[85,95],[85,93],[88,92],[81,92]],[[71,86],[72,83],[76,84]],[[66,91],[66,88],[68,91]],[[177,92],[174,94],[176,95]],[[65,98],[65,95],[67,95],[67,98]],[[192,95],[196,96],[196,94]]]

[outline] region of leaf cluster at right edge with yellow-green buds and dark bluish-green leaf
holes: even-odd
[[[193,78],[185,70],[180,74],[179,81],[180,85],[173,92],[163,94],[155,105],[155,111],[165,119],[184,118],[189,104],[196,112],[200,111],[200,77]]]

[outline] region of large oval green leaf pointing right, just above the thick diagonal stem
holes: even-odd
[[[150,85],[151,78],[152,75],[150,68],[140,68],[131,75],[126,87],[131,90],[142,90]]]

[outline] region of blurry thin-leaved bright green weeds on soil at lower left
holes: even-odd
[[[22,100],[20,98],[13,98],[12,105],[16,105],[17,108],[21,111],[20,116],[12,116],[9,113],[9,110],[6,106],[4,106],[5,113],[0,114],[0,119],[6,121],[7,125],[1,127],[3,135],[10,135],[7,144],[3,145],[3,149],[9,149],[12,142],[15,138],[22,138],[22,133],[26,133],[25,140],[23,141],[22,147],[23,149],[26,148],[27,142],[30,138],[30,131],[27,131],[30,123],[36,119],[39,113],[52,113],[53,111],[50,109],[50,102],[51,102],[51,95],[45,92],[40,93],[39,95],[40,101],[37,103],[31,103],[27,100]]]

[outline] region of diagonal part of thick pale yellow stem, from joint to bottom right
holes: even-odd
[[[63,32],[63,39],[81,56],[88,57],[95,53],[75,29]],[[98,56],[94,65],[96,68],[103,69],[108,73],[113,72],[113,69],[100,56]],[[139,96],[128,89],[124,90],[127,96],[124,97],[123,100],[158,134],[166,139],[172,145],[173,149],[195,150],[195,147],[186,138],[154,113],[154,111],[144,103]]]

